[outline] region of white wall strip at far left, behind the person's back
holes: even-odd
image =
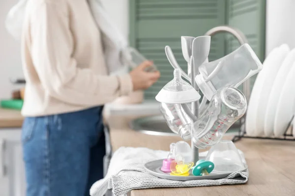
[[[23,77],[20,43],[10,36],[4,26],[8,10],[17,0],[0,0],[0,99],[10,98],[12,89],[20,86],[10,84],[10,77]]]

